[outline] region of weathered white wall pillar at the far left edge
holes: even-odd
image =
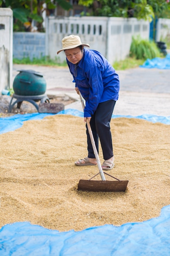
[[[0,8],[0,92],[12,87],[13,12]]]

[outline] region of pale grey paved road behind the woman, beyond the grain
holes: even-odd
[[[17,70],[41,72],[46,80],[47,94],[66,94],[76,99],[65,106],[82,111],[79,95],[74,90],[73,78],[67,67],[44,67],[35,65],[13,65],[13,79]],[[115,115],[159,115],[170,116],[170,70],[137,67],[117,71],[120,79],[119,100],[115,105]]]

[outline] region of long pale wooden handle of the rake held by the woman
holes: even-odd
[[[80,92],[79,92],[79,97],[80,97],[82,107],[83,107],[83,111],[84,111],[84,101],[82,99],[82,94]],[[91,138],[91,144],[93,146],[93,151],[94,151],[94,154],[95,154],[95,158],[97,160],[97,165],[98,165],[98,168],[99,168],[100,176],[101,176],[102,180],[106,180],[106,178],[104,176],[103,169],[102,169],[102,165],[100,163],[100,159],[99,159],[99,155],[98,155],[97,148],[96,148],[96,145],[95,145],[95,141],[94,141],[94,138],[93,138],[93,133],[92,133],[91,126],[90,126],[90,121],[88,119],[86,119],[86,124],[87,124],[87,128],[88,128],[88,133],[89,133],[90,138]]]

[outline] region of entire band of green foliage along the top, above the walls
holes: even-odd
[[[82,12],[82,15],[135,17],[149,21],[155,17],[170,18],[169,0],[79,0],[78,4],[91,10],[91,13]],[[23,31],[23,23],[31,20],[37,21],[38,31],[42,31],[43,11],[55,9],[57,5],[67,11],[73,8],[69,0],[0,0],[0,7],[13,10],[14,31]]]

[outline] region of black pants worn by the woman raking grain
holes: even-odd
[[[113,157],[113,145],[112,145],[112,135],[110,132],[110,120],[113,114],[116,101],[109,100],[99,103],[95,113],[91,116],[91,130],[93,133],[95,145],[97,152],[99,153],[99,139],[102,146],[103,158],[108,160]],[[93,152],[93,146],[91,144],[91,138],[88,133],[88,128],[86,125],[87,134],[87,150],[88,157],[95,158]]]

